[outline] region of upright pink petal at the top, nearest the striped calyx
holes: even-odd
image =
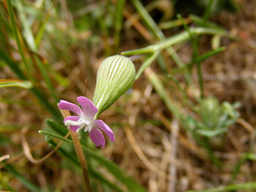
[[[90,99],[83,96],[78,97],[77,100],[82,106],[84,116],[90,119],[94,118],[95,114],[98,112],[98,109],[97,107],[95,107],[93,102],[91,102]]]

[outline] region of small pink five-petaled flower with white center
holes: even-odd
[[[114,142],[115,137],[113,131],[110,127],[105,124],[102,120],[94,119],[95,114],[98,112],[97,107],[90,101],[90,99],[86,97],[78,97],[77,98],[79,104],[82,106],[80,109],[79,106],[74,103],[69,103],[64,100],[60,100],[59,108],[64,110],[69,110],[76,113],[78,116],[69,116],[64,119],[65,125],[71,129],[71,131],[76,131],[79,134],[79,131],[84,128],[84,132],[88,131],[91,140],[98,147],[102,145],[105,146],[105,138],[101,129],[104,131],[109,139]]]

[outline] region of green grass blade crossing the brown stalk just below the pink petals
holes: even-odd
[[[55,135],[53,133],[49,133],[46,131],[39,131],[39,133],[53,137],[53,138],[63,140],[64,142],[67,142],[69,144],[73,143],[72,140],[65,139],[65,138],[63,138],[59,135]],[[146,192],[146,190],[140,184],[138,184],[138,182],[136,180],[134,180],[131,176],[128,176],[128,174],[126,172],[124,172],[124,170],[122,170],[116,163],[103,157],[97,151],[94,151],[94,150],[84,146],[83,144],[82,144],[82,148],[84,150],[84,154],[87,157],[91,157],[91,158],[95,159],[96,161],[98,161],[100,163],[100,165],[104,166],[110,173],[112,173],[113,176],[115,176],[117,180],[121,181],[124,185],[126,185],[127,188],[129,189],[129,191],[131,191],[131,192]]]

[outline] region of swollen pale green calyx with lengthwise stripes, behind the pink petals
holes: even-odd
[[[124,56],[106,58],[99,66],[93,103],[98,108],[95,118],[109,108],[133,84],[135,67]]]

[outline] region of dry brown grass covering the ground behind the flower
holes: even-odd
[[[254,147],[256,139],[256,1],[240,0],[239,2],[242,9],[237,14],[223,11],[215,15],[212,20],[231,33],[240,36],[241,40],[223,39],[222,44],[226,46],[226,50],[207,59],[202,65],[206,96],[214,95],[221,102],[241,101],[242,103],[239,109],[241,117],[237,123],[232,125],[227,134],[219,140],[211,140],[215,155],[222,161],[221,170],[212,165],[206,150],[198,146],[193,136],[173,118],[148,81],[147,72],[135,81],[133,89],[128,94],[123,95],[99,116],[99,119],[113,128],[116,141],[113,144],[108,142],[104,149],[98,150],[127,170],[149,192],[179,192],[227,185],[230,183],[234,166],[242,154],[248,150],[256,153]],[[97,69],[101,61],[105,59],[103,52],[107,45],[104,41],[100,41],[95,46],[86,42],[80,43],[79,41],[86,39],[87,35],[92,35],[91,32],[87,31],[86,34],[76,32],[71,14],[65,9],[65,3],[60,4],[63,9],[63,19],[59,27],[63,27],[63,31],[67,30],[69,35],[74,33],[77,42],[65,47],[63,53],[55,57],[54,52],[46,52],[44,46],[41,47],[39,53],[49,60],[55,71],[69,81],[67,87],[53,82],[57,92],[60,93],[59,97],[76,103],[76,97],[84,95],[84,80],[87,80],[86,97],[92,98]],[[130,9],[129,12],[128,9],[124,11],[124,16],[125,20],[134,20]],[[150,39],[148,33],[144,33],[144,37],[141,35],[146,28],[140,20],[135,18],[132,25],[134,28],[127,27],[122,31],[120,48],[122,51],[143,47],[148,44],[146,40]],[[85,36],[82,36],[83,34]],[[101,37],[105,38],[104,35]],[[209,41],[209,37],[203,37],[200,53],[210,49]],[[55,46],[57,49],[62,49],[58,43],[56,42]],[[7,48],[12,57],[20,60],[12,39],[9,46],[13,46],[13,48]],[[189,43],[182,44],[178,50],[178,54],[185,63],[190,61],[188,53],[191,52],[192,48]],[[168,70],[171,71],[176,66],[168,54],[164,53],[164,56]],[[140,61],[135,61],[135,65],[138,68]],[[160,74],[156,62],[151,65],[151,68]],[[46,85],[40,81],[41,77],[37,69],[35,76],[40,86],[45,89]],[[159,76],[161,78],[161,75]],[[196,82],[195,71],[192,71],[192,77]],[[10,68],[4,66],[1,67],[0,78],[16,78],[16,76]],[[177,76],[177,78],[183,85],[182,76]],[[175,88],[176,86],[172,82],[165,83],[172,86],[172,89],[168,91],[172,99],[179,102],[181,95]],[[20,134],[21,128],[25,126],[29,128],[26,139],[37,159],[52,150],[44,142],[44,137],[38,134],[38,130],[45,126],[44,119],[50,118],[51,115],[38,105],[28,90],[0,89],[0,101],[2,101],[0,102],[0,132],[14,143],[7,144],[0,141],[1,153],[11,156],[8,162],[13,163],[23,175],[40,187],[50,185],[56,191],[81,191],[82,178],[73,172],[71,165],[63,161],[58,154],[53,154],[42,163],[34,164],[29,162],[22,153]],[[192,95],[189,97],[192,98]],[[190,110],[185,107],[183,110],[190,113]],[[3,168],[3,164],[0,168]],[[246,161],[241,166],[234,183],[254,181],[255,172],[256,163]],[[2,174],[10,186],[22,192],[27,191],[8,173],[3,171]],[[109,178],[112,179],[110,175]]]

